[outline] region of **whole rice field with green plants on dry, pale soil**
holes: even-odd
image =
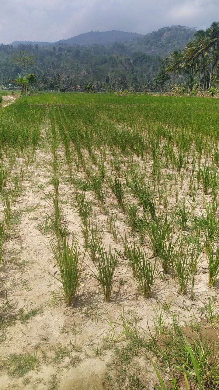
[[[218,243],[218,99],[0,109],[0,389],[219,389]]]

